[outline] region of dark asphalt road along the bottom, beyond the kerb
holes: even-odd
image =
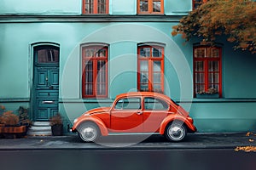
[[[196,150],[2,150],[8,170],[254,170],[256,154],[231,149]]]

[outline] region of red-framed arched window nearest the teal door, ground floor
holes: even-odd
[[[82,97],[108,96],[108,46],[82,47]]]

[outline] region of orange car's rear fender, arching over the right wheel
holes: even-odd
[[[185,117],[183,116],[167,116],[163,122],[161,122],[160,124],[160,134],[164,134],[166,131],[166,126],[170,123],[170,122],[183,122],[185,123],[185,125],[189,128],[189,131],[194,132],[195,131],[195,126],[189,122],[189,120],[187,120]]]

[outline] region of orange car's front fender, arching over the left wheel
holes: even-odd
[[[78,130],[79,125],[84,122],[94,122],[100,128],[102,136],[108,136],[108,127],[106,127],[105,123],[102,122],[100,118],[96,116],[84,116],[83,119],[79,120],[79,122],[76,123],[75,128]]]

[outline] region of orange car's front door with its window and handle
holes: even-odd
[[[111,111],[110,131],[114,133],[143,132],[142,99],[125,97],[119,99]]]

